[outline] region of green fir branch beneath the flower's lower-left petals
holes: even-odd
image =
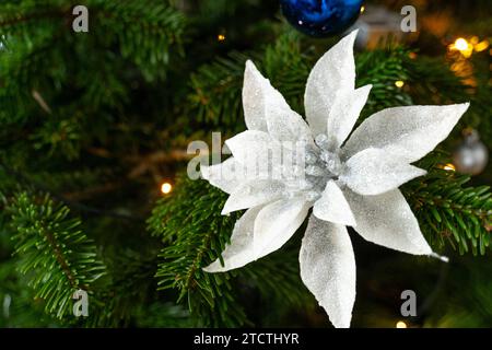
[[[220,215],[224,195],[203,185],[181,179],[176,197],[161,202],[149,220],[149,229],[169,243],[160,254],[160,290],[177,289],[178,302],[187,302],[191,315],[206,325],[242,325],[246,316],[232,292],[231,273],[201,270],[225,247],[236,219]]]

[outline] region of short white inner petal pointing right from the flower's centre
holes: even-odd
[[[380,195],[425,174],[384,150],[366,149],[345,163],[340,180],[360,195]]]

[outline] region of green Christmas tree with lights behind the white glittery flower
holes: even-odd
[[[245,211],[222,214],[229,195],[189,170],[226,160],[224,140],[247,129],[248,60],[305,116],[313,67],[355,28],[355,88],[372,85],[355,129],[386,108],[470,105],[411,161],[425,175],[395,179],[449,262],[349,228],[351,325],[492,326],[490,2],[339,1],[356,15],[308,30],[295,2],[2,1],[0,327],[329,327],[301,278],[308,220],[210,273]]]

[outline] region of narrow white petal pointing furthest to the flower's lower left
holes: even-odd
[[[216,259],[208,267],[203,268],[207,272],[224,272],[245,266],[255,260],[253,250],[253,229],[255,219],[263,207],[256,207],[248,209],[234,225],[234,231],[231,236],[231,244],[229,244],[222,258],[224,266],[221,265],[220,259]]]

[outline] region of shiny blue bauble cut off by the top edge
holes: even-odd
[[[349,28],[363,0],[280,0],[285,19],[301,32],[325,37]]]

